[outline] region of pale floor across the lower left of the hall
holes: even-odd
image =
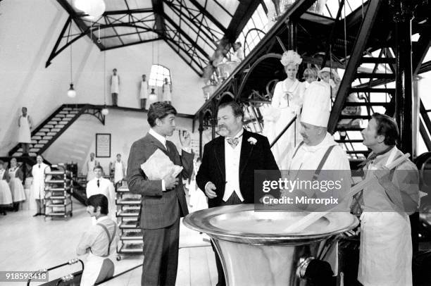
[[[91,220],[84,206],[76,203],[74,207],[73,218],[68,220],[33,218],[34,211],[9,212],[7,216],[0,216],[0,271],[35,271],[77,257],[75,247],[82,233],[91,225]],[[209,286],[217,282],[213,250],[204,238],[208,237],[189,230],[181,223],[176,285]],[[142,259],[142,256],[123,256],[117,261],[113,256],[115,274],[141,264]],[[78,270],[80,263],[63,266],[49,271],[49,277],[53,280]],[[140,285],[141,274],[142,268],[139,267],[104,285]]]

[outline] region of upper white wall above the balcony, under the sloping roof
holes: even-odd
[[[104,70],[104,52],[88,37],[78,39],[72,44],[77,97],[69,99],[65,94],[70,83],[70,47],[45,68],[68,14],[56,0],[1,1],[0,14],[0,156],[16,144],[16,121],[22,106],[27,106],[39,125],[61,104],[104,104],[104,97],[106,104],[111,104],[108,79],[113,68],[121,77],[118,104],[138,106],[141,75],[149,78],[151,43],[106,51]],[[204,104],[203,82],[167,44],[154,46],[158,46],[159,63],[172,74],[173,105],[179,113],[194,114]]]

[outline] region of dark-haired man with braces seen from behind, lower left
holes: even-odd
[[[87,256],[81,276],[81,286],[92,286],[113,276],[115,267],[109,258],[118,243],[117,224],[108,216],[108,199],[95,194],[87,199],[87,213],[96,221],[85,232],[76,248],[77,255]]]

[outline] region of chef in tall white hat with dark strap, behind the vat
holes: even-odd
[[[311,82],[304,94],[304,104],[301,112],[301,135],[303,141],[293,149],[288,168],[289,180],[298,175],[304,178],[304,173],[310,176],[309,180],[340,180],[342,191],[351,186],[351,172],[346,152],[335,142],[334,137],[327,132],[327,123],[330,118],[330,87],[323,82]],[[302,172],[308,170],[308,172]],[[311,172],[310,172],[311,170]],[[320,173],[321,170],[330,172]],[[323,179],[321,176],[324,176]],[[307,194],[311,197],[311,194]],[[316,195],[324,195],[316,192]],[[341,202],[344,197],[339,197]],[[342,211],[349,211],[351,199],[343,200]],[[337,275],[338,259],[337,244],[327,252],[323,258],[329,262],[332,272]]]

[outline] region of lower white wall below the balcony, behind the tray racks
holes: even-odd
[[[187,129],[192,132],[192,119],[175,119],[177,129]],[[79,172],[86,173],[83,168],[89,159],[91,152],[96,152],[96,133],[111,134],[111,158],[96,158],[101,163],[105,172],[108,172],[109,162],[115,160],[116,154],[121,154],[123,161],[127,164],[127,159],[132,143],[144,137],[149,130],[146,121],[146,113],[135,111],[109,110],[106,116],[105,125],[90,115],[83,115],[78,118],[73,125],[68,128],[54,144],[49,147],[43,156],[50,163],[77,162]],[[196,137],[196,134],[194,135]],[[178,133],[174,132],[168,140],[177,145],[181,151]]]

